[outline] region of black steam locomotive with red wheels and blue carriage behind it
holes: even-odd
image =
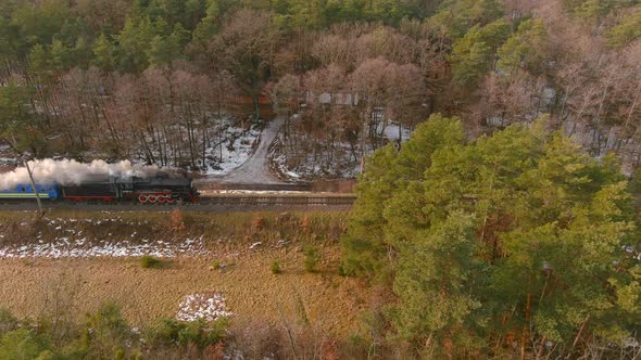
[[[152,178],[100,177],[78,184],[56,183],[17,184],[14,189],[0,191],[0,200],[39,198],[51,201],[99,201],[138,202],[148,204],[173,204],[194,202],[198,191],[191,187],[191,179],[171,177],[159,172]]]

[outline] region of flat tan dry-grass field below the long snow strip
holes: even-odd
[[[272,274],[269,265],[281,261],[285,272]],[[77,316],[114,300],[135,325],[158,317],[173,317],[184,296],[202,292],[224,295],[232,322],[262,322],[280,326],[278,308],[296,317],[302,301],[312,324],[336,335],[350,335],[359,326],[364,287],[335,273],[304,273],[302,256],[290,250],[267,250],[241,258],[225,271],[212,270],[212,259],[183,258],[166,269],[142,269],[137,259],[35,259],[0,261],[0,306],[20,317],[51,312],[52,299],[71,301]],[[59,288],[56,296],[53,296]],[[62,288],[62,291],[60,291]]]

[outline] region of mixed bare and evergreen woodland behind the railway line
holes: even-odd
[[[550,127],[595,156],[616,152],[631,169],[639,7],[4,0],[2,139],[37,157],[196,168],[216,145],[221,115],[255,118],[259,95],[268,94],[277,113],[302,115],[282,141],[293,165],[310,153],[357,162],[387,142],[385,126],[412,129],[433,112],[460,116],[470,137],[550,113]]]

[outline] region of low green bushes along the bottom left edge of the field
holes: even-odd
[[[58,324],[59,326],[60,324]],[[88,313],[86,322],[68,323],[64,330],[52,326],[47,314],[37,325],[18,323],[7,310],[0,311],[0,359],[74,360],[74,359],[156,359],[167,353],[204,356],[204,349],[222,343],[228,327],[226,319],[181,322],[159,319],[156,324],[134,331],[123,320],[114,303],[103,304]],[[53,340],[63,332],[62,342]],[[197,356],[197,355],[193,355]]]

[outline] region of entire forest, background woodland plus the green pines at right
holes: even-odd
[[[377,293],[366,358],[641,356],[641,1],[3,0],[0,14],[14,156],[203,171],[230,128],[265,125],[268,99],[285,170],[364,164],[337,271]]]

